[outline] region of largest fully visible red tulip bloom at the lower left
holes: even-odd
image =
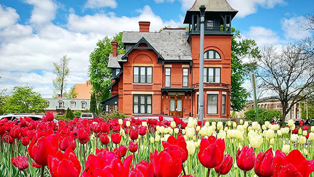
[[[58,134],[53,134],[53,131],[40,131],[38,130],[29,143],[28,154],[30,158],[41,166],[48,165],[47,158],[49,155],[55,155],[59,150]]]

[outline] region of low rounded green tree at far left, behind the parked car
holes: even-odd
[[[48,106],[46,100],[30,86],[15,86],[5,103],[5,113],[42,113]]]

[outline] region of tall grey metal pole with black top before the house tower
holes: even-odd
[[[200,7],[201,11],[201,28],[200,28],[200,83],[199,83],[199,120],[204,120],[204,31],[205,31],[205,6]]]

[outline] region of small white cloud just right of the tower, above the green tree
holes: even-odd
[[[254,39],[258,46],[275,45],[280,42],[279,36],[269,28],[250,26],[249,31],[243,34],[244,38]]]

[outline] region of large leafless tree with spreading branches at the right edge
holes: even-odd
[[[275,92],[282,104],[282,120],[292,106],[312,96],[309,88],[314,85],[313,39],[288,44],[277,49],[266,46],[259,60],[258,76],[264,90]]]

